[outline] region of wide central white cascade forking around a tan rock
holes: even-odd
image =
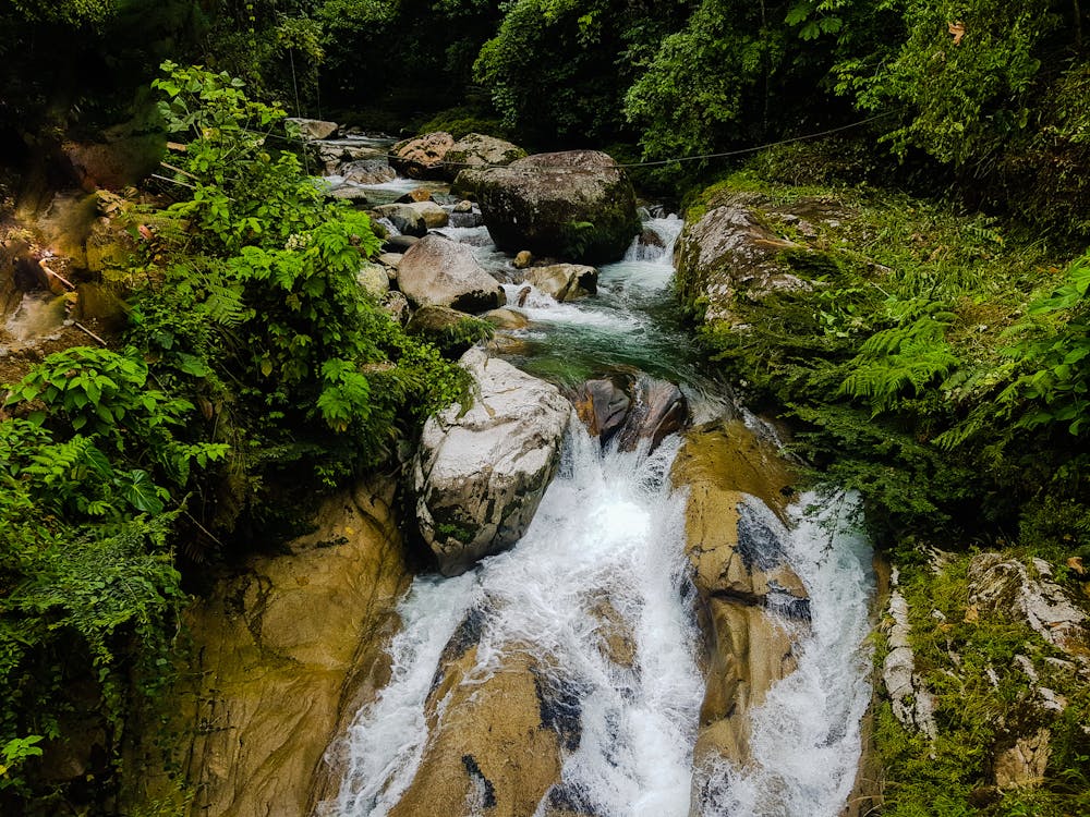
[[[436,661],[472,608],[484,615],[474,682],[510,645],[530,644],[560,668],[558,685],[583,693],[581,740],[562,775],[569,796],[602,815],[688,813],[703,681],[686,612],[683,498],[668,488],[677,447],[675,439],[650,458],[603,455],[573,427],[560,474],[516,548],[475,574],[414,583],[400,608],[393,681],[349,735],[340,815],[385,815],[411,781]],[[631,668],[601,648],[603,623],[592,610],[606,598],[632,627]]]

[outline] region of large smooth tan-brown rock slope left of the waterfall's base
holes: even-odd
[[[389,681],[385,647],[411,580],[395,488],[341,491],[315,533],[251,559],[190,606],[193,649],[165,707],[174,757],[155,763],[159,733],[147,734],[150,756],[133,760],[141,802],[178,796],[180,769],[192,802],[171,814],[304,815],[336,794],[343,770],[327,747]]]

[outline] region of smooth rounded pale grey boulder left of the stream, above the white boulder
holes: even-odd
[[[507,302],[504,288],[470,247],[437,234],[421,239],[405,252],[398,265],[398,285],[417,306],[436,304],[479,313]]]

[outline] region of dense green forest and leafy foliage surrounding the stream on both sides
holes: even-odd
[[[708,357],[790,414],[800,453],[863,493],[906,563],[921,544],[1003,544],[1074,559],[1081,586],[1085,29],[1080,0],[4,0],[0,216],[74,182],[66,141],[184,142],[192,195],[141,204],[156,239],[137,244],[113,346],[8,385],[0,806],[109,813],[205,566],[387,465],[460,393],[449,361],[358,293],[379,246],[366,217],[253,138],[286,115],[606,149],[693,217],[738,187],[835,187],[868,223],[787,259],[821,281],[816,307],[770,301],[741,341],[712,327]],[[708,156],[825,132],[744,168]],[[1079,694],[1066,770],[1090,752]],[[44,782],[41,747],[88,711],[105,755],[82,782]],[[964,758],[930,751],[918,802],[971,789]]]

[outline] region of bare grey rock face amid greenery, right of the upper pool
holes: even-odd
[[[768,207],[770,202],[756,194],[734,194],[681,231],[674,252],[677,288],[686,303],[706,304],[705,321],[744,327],[737,308],[741,298],[809,286],[779,260],[780,253],[798,245],[755,217]]]

